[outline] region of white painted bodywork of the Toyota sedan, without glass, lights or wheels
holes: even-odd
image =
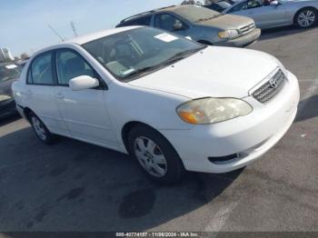
[[[252,163],[273,147],[293,124],[299,103],[296,77],[273,56],[244,49],[209,46],[173,66],[122,83],[107,72],[81,44],[131,30],[123,27],[87,35],[45,48],[74,49],[101,75],[108,90],[73,91],[65,86],[25,83],[27,68],[13,85],[18,111],[30,108],[54,134],[127,153],[125,124],[148,124],[173,144],[188,171],[224,173]],[[250,65],[250,66],[247,66]],[[267,104],[250,94],[255,85],[281,68],[283,90]],[[202,97],[236,97],[253,106],[253,113],[219,124],[187,124],[176,114],[180,104]],[[256,147],[255,147],[256,146]],[[210,156],[239,154],[228,163],[213,164]],[[243,154],[242,154],[243,153]]]

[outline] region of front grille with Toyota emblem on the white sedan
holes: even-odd
[[[279,69],[268,82],[253,92],[253,97],[264,104],[282,90],[284,83],[285,75],[283,71]]]

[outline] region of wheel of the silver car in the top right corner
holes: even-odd
[[[317,10],[306,7],[301,9],[294,17],[294,24],[303,29],[310,28],[317,24],[318,12]]]

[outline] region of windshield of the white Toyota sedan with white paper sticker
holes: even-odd
[[[120,81],[150,74],[204,48],[150,27],[109,35],[82,46]]]

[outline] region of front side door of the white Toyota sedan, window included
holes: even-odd
[[[60,49],[55,53],[58,86],[55,87],[55,102],[71,134],[80,140],[107,147],[118,147],[116,137],[106,110],[101,86],[94,89],[73,91],[69,81],[80,75],[99,78],[93,67],[73,49]]]

